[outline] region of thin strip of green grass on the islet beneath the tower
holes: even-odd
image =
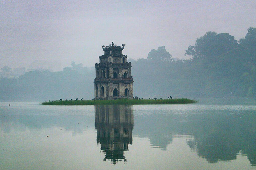
[[[135,104],[187,104],[187,103],[196,103],[196,100],[191,100],[187,98],[178,98],[178,99],[158,99],[158,100],[149,100],[149,99],[118,99],[118,100],[69,100],[69,101],[50,101],[42,102],[43,105],[135,105]]]

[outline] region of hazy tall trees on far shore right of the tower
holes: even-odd
[[[256,28],[237,41],[228,33],[206,32],[189,46],[190,60],[174,61],[165,47],[132,62],[138,96],[256,96]]]

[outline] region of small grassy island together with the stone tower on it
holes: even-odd
[[[127,62],[127,55],[123,55],[121,46],[102,45],[104,54],[99,56],[99,64],[95,64],[94,98],[92,100],[53,100],[42,102],[42,105],[139,105],[139,104],[187,104],[196,100],[187,98],[138,98],[133,97],[133,77],[131,62]],[[105,47],[105,48],[104,48]]]

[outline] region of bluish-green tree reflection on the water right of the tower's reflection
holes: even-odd
[[[256,114],[251,111],[205,111],[201,114],[148,114],[136,116],[134,133],[166,150],[175,135],[191,135],[187,145],[209,163],[247,155],[256,165]],[[147,126],[150,124],[150,126]]]

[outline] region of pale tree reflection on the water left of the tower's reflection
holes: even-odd
[[[73,135],[76,133],[82,134],[86,127],[93,126],[93,120],[89,115],[81,114],[15,114],[7,112],[0,114],[0,129],[9,133],[12,130],[26,130],[28,129],[46,129],[52,127],[62,127],[65,130],[72,131]],[[15,125],[15,126],[12,126]]]

